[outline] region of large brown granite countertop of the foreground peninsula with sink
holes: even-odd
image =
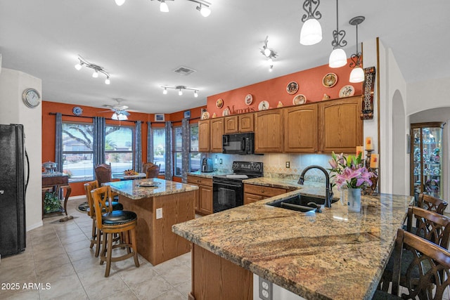
[[[307,183],[300,188],[176,224],[172,231],[305,299],[371,299],[413,198],[362,196],[361,213],[340,201],[322,213],[265,205],[324,193]]]

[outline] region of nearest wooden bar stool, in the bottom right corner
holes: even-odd
[[[403,266],[404,256],[409,253],[411,261]],[[413,235],[403,229],[397,231],[394,248],[394,271],[392,292],[376,290],[373,300],[389,299],[433,299],[440,300],[450,284],[450,252],[439,245]],[[427,266],[424,268],[424,266]],[[408,294],[401,293],[399,298],[401,270],[406,269],[406,287]],[[412,276],[418,273],[419,277]]]

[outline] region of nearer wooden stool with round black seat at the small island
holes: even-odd
[[[102,251],[100,255],[100,264],[106,261],[105,277],[110,275],[111,261],[123,261],[124,259],[134,258],[134,265],[139,267],[137,242],[136,242],[136,223],[137,215],[134,211],[113,211],[111,204],[111,189],[109,185],[96,188],[91,191],[94,200],[94,209],[96,211],[97,228],[103,233]],[[109,206],[106,202],[110,202]],[[103,214],[103,211],[106,211]],[[119,244],[113,245],[113,234],[121,235]],[[113,249],[127,248],[127,254],[113,257]]]

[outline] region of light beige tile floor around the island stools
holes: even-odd
[[[134,266],[132,258],[113,262],[110,276],[105,278],[105,264],[101,266],[94,256],[95,246],[89,249],[91,218],[76,209],[85,201],[83,198],[69,200],[68,213],[74,219],[59,222],[62,215],[45,218],[44,226],[27,233],[25,252],[1,259],[0,299],[188,298],[190,253],[158,266],[152,266],[142,256],[139,256],[139,268]],[[35,287],[27,289],[24,284]]]

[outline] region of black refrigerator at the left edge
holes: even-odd
[[[25,176],[28,176],[30,169],[25,155],[23,125],[0,124],[0,255],[2,257],[25,250]]]

